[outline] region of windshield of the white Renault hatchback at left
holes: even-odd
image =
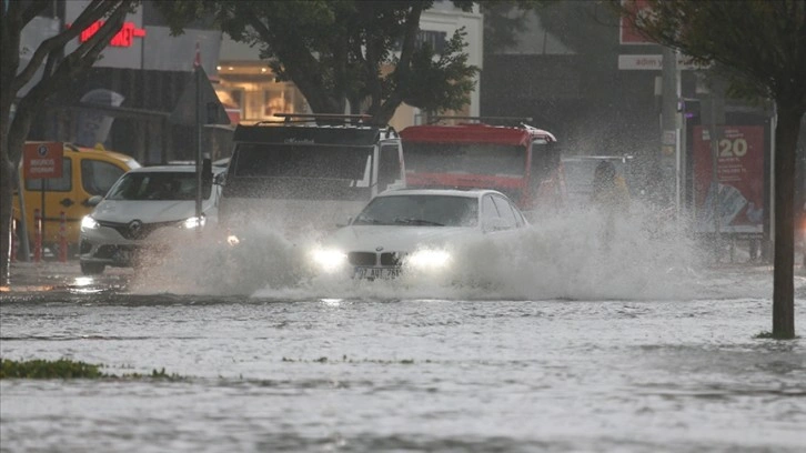
[[[108,200],[195,200],[195,173],[137,172],[124,174],[110,189]],[[210,198],[210,183],[204,184],[202,198]]]

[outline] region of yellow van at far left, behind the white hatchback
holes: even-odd
[[[26,179],[20,171],[20,185],[26,201],[28,240],[33,245],[34,210],[44,212],[42,243],[51,251],[58,250],[61,213],[67,218],[68,255],[78,251],[81,219],[92,212],[90,197],[105,195],[118,179],[131,169],[140,167],[133,158],[112,151],[79,148],[64,143],[61,178]],[[42,191],[44,181],[44,192]],[[20,197],[14,192],[14,220],[20,225]],[[18,233],[21,239],[22,234]],[[33,248],[31,248],[33,253]]]

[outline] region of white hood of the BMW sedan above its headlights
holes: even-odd
[[[413,251],[480,235],[473,228],[461,226],[344,226],[324,241],[324,246],[344,251]]]

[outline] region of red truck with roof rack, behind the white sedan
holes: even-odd
[[[401,131],[406,187],[493,189],[536,217],[563,205],[560,149],[551,132],[527,125],[531,119],[437,120],[460,123],[412,125]]]

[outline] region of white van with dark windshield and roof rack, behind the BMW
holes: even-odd
[[[284,121],[234,131],[221,199],[222,226],[233,240],[254,225],[284,235],[333,230],[372,197],[403,184],[394,129],[367,124],[365,115],[275,115]]]

